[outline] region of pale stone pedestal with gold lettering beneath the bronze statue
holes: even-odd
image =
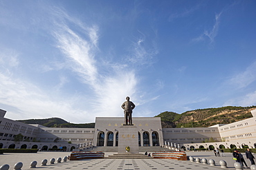
[[[127,152],[125,147],[130,147]],[[118,131],[118,154],[138,153],[138,128],[135,125],[122,125]]]

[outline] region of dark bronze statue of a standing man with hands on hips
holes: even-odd
[[[129,125],[132,125],[132,118],[131,118],[131,114],[132,114],[132,110],[134,109],[135,105],[134,103],[132,103],[130,101],[130,98],[127,96],[126,100],[124,103],[122,103],[122,109],[124,109],[124,114],[125,114],[125,124],[128,125],[128,121],[129,121]]]

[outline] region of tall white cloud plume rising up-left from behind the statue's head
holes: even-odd
[[[63,12],[63,11],[62,11]],[[61,50],[68,61],[66,68],[71,69],[77,75],[82,77],[82,83],[89,85],[93,89],[93,96],[90,96],[91,111],[93,116],[121,116],[122,109],[120,105],[126,96],[136,97],[136,86],[138,80],[132,67],[126,70],[127,66],[122,67],[119,63],[109,63],[95,58],[98,47],[98,26],[87,27],[80,21],[73,20],[67,14],[58,15],[68,18],[68,21],[77,23],[77,27],[82,30],[83,36],[72,30],[68,24],[62,22],[57,24],[57,31],[53,35],[57,40],[57,47]],[[86,39],[89,37],[89,39]],[[98,61],[103,61],[103,65]],[[111,74],[105,74],[99,69],[99,65],[110,67],[108,71]]]

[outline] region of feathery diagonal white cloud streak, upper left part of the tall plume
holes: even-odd
[[[61,27],[63,29],[54,31],[53,35],[58,41],[57,47],[68,59],[67,65],[84,76],[84,81],[95,83],[98,71],[95,67],[91,43],[75,34],[67,25],[61,25]]]

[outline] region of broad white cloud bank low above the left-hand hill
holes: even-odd
[[[8,114],[6,116],[8,118],[16,120],[57,116],[75,122],[77,121],[75,115],[87,114],[86,111],[72,107],[71,104],[77,102],[75,100],[53,100],[35,85],[14,78],[11,74],[0,72],[0,78],[0,103],[12,107],[12,111],[7,109]],[[93,121],[89,118],[87,120]]]

